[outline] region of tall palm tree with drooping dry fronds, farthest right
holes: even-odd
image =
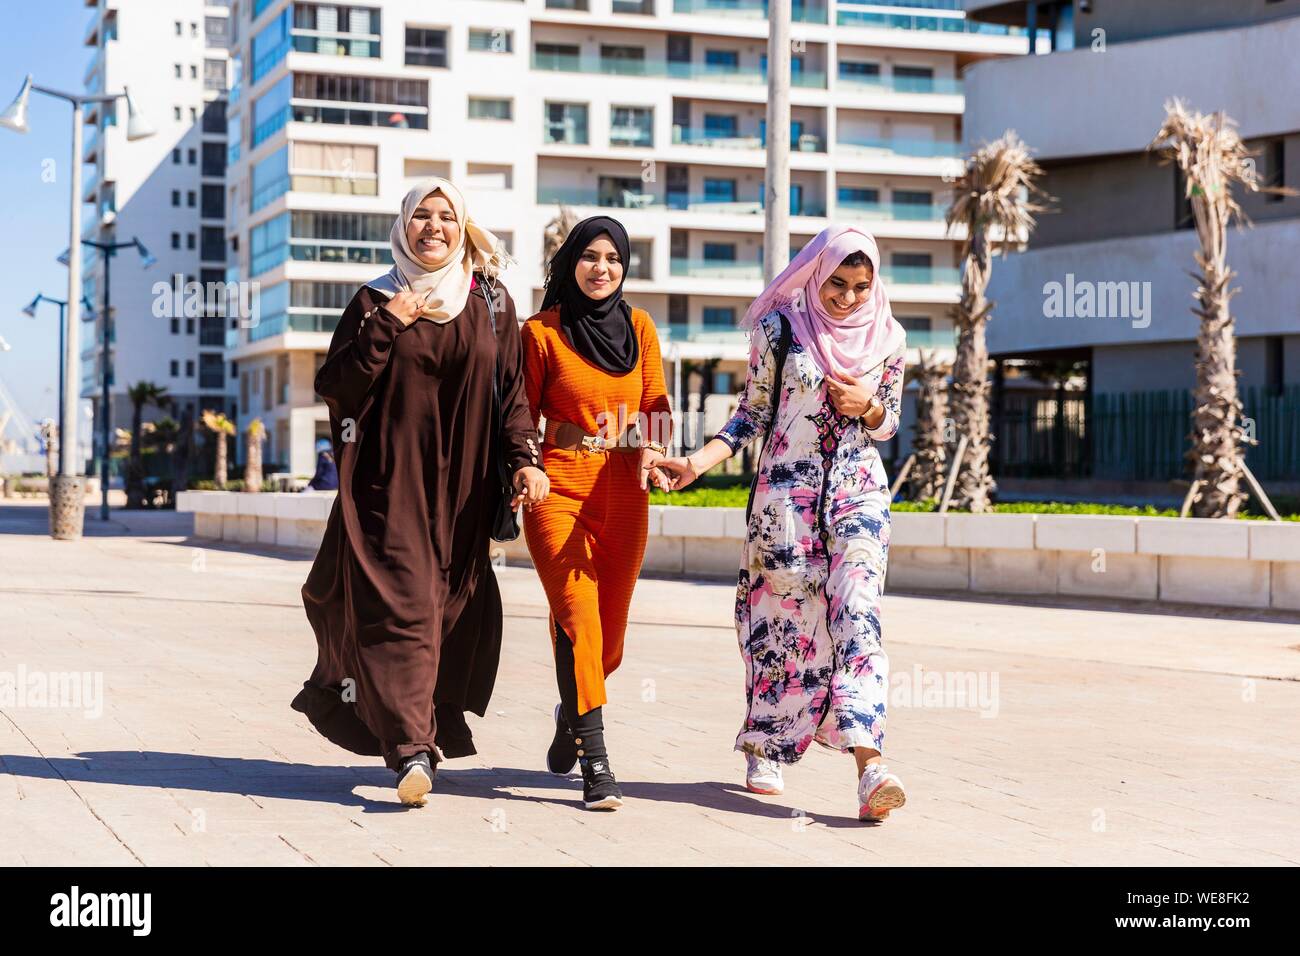
[[[1244,438],[1242,399],[1236,388],[1236,333],[1228,302],[1238,290],[1228,284],[1235,274],[1227,265],[1227,226],[1234,219],[1248,221],[1232,196],[1232,187],[1251,193],[1292,190],[1264,187],[1236,124],[1222,112],[1206,116],[1190,112],[1182,100],[1165,104],[1165,122],[1147,147],[1165,163],[1178,165],[1183,195],[1192,207],[1199,273],[1192,312],[1201,320],[1196,336],[1196,392],[1192,410],[1192,479],[1197,492],[1192,514],[1197,518],[1231,518],[1245,502],[1242,488]]]

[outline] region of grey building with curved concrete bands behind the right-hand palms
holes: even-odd
[[[1300,3],[966,0],[966,12],[1052,38],[1039,56],[979,62],[966,77],[967,143],[1014,127],[1054,196],[1028,247],[994,263],[989,351],[1000,368],[1079,371],[1080,388],[1066,399],[1076,428],[1056,442],[1078,446],[1060,462],[1070,476],[1178,479],[1196,381],[1190,273],[1199,243],[1179,172],[1147,146],[1165,101],[1178,96],[1238,122],[1257,151],[1261,182],[1300,183],[1300,100],[1288,95],[1300,88]],[[1295,484],[1300,198],[1244,194],[1239,202],[1253,221],[1227,239],[1240,290],[1232,299],[1239,382],[1260,441],[1247,462],[1271,486]],[[1095,304],[1079,308],[1088,294]],[[1008,431],[1004,447],[1014,437]]]

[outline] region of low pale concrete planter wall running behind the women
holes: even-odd
[[[333,492],[182,492],[198,537],[315,550]],[[645,570],[736,576],[744,509],[650,509]],[[529,564],[523,536],[494,545]],[[1300,522],[896,512],[887,587],[1300,610]]]

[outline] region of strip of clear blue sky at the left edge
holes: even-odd
[[[81,0],[6,0],[9,29],[0,31],[0,109],[13,100],[27,73],[43,86],[83,90],[82,75],[92,51],[82,46],[82,38],[94,13]],[[27,418],[39,421],[53,418],[58,408],[58,308],[42,303],[35,319],[21,310],[36,293],[68,298],[68,271],[55,259],[68,247],[72,107],[32,94],[27,122],[31,129],[26,135],[0,129],[5,233],[0,337],[12,346],[0,351],[0,378]],[[53,182],[42,178],[47,160],[56,164]]]

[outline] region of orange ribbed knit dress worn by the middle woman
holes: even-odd
[[[597,434],[606,421],[666,420],[670,412],[654,320],[632,310],[640,342],[637,367],[611,375],[569,345],[559,307],[523,326],[524,386],[533,424],[538,416]],[[645,420],[642,420],[645,421]],[[618,432],[618,424],[608,427]],[[644,437],[667,441],[662,425]],[[637,453],[589,453],[542,446],[551,480],[546,501],[524,510],[524,535],[551,609],[551,641],[559,622],[573,641],[578,713],[603,706],[604,678],[623,659],[632,588],[646,550],[649,492],[640,485]]]

